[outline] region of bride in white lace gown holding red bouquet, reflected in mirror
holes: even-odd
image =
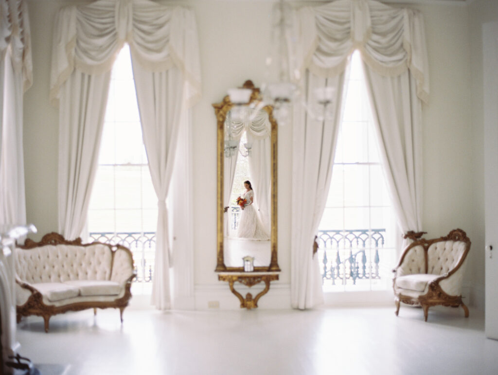
[[[249,238],[253,240],[269,240],[269,236],[263,228],[263,224],[259,219],[256,210],[252,204],[254,203],[254,191],[249,181],[244,181],[245,193],[241,198],[247,202],[242,208],[241,218],[239,220],[239,229],[237,237]]]

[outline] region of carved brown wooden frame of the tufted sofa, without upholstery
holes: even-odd
[[[95,245],[104,245],[108,247],[111,250],[112,254],[112,260],[111,260],[111,270],[110,273],[112,274],[112,268],[114,266],[114,260],[115,260],[115,255],[118,250],[124,250],[125,253],[129,257],[129,266],[131,268],[131,274],[129,277],[125,278],[124,280],[124,294],[120,296],[117,299],[114,299],[112,301],[84,301],[84,302],[75,302],[75,303],[70,303],[67,305],[62,305],[62,306],[51,306],[47,305],[43,301],[43,295],[40,293],[39,290],[37,290],[33,285],[22,281],[18,275],[16,275],[16,283],[17,285],[22,288],[28,290],[31,294],[29,295],[28,299],[26,302],[22,305],[17,305],[16,307],[16,314],[17,314],[17,323],[20,322],[21,317],[23,316],[29,316],[29,315],[37,315],[43,317],[44,323],[45,323],[45,332],[48,332],[49,328],[49,320],[50,317],[53,315],[57,314],[63,314],[67,311],[81,311],[81,310],[86,310],[93,308],[94,309],[94,315],[97,315],[97,309],[106,309],[106,308],[117,308],[120,310],[120,319],[121,323],[123,323],[123,311],[124,308],[128,305],[128,302],[131,298],[131,281],[133,278],[136,276],[136,273],[133,271],[133,256],[132,253],[129,249],[125,248],[124,246],[121,245],[110,245],[110,244],[103,244],[99,242],[93,242],[90,244],[82,244],[81,238],[78,238],[74,241],[68,241],[64,239],[61,235],[57,233],[49,233],[45,236],[43,236],[42,240],[40,242],[34,242],[32,240],[27,239],[25,241],[25,244],[23,246],[17,246],[19,249],[24,249],[24,250],[33,250],[36,248],[40,248],[43,246],[47,245],[73,245],[77,247],[90,247],[90,246],[95,246]],[[122,293],[120,293],[122,294]]]

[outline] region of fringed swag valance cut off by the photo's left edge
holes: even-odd
[[[22,88],[26,91],[33,83],[33,66],[29,18],[24,0],[0,0],[1,61],[9,46],[12,66],[16,72],[22,72]]]

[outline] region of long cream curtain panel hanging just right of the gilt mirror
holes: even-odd
[[[332,165],[343,102],[343,72],[334,78],[320,78],[308,72],[307,92],[317,87],[335,88],[335,117],[312,120],[295,106],[292,144],[291,304],[312,308],[323,302],[318,256],[312,257],[313,243],[330,188]]]

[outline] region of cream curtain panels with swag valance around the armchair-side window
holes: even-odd
[[[421,102],[426,102],[429,95],[422,15],[413,9],[371,0],[337,0],[303,7],[294,15],[296,43],[290,46],[291,69],[301,77],[298,84],[303,92],[312,93],[323,86],[336,87],[336,111],[341,108],[341,87],[349,58],[354,50],[360,50],[398,224],[403,231],[419,230]],[[336,127],[337,116],[333,125]],[[313,125],[305,114],[295,115],[294,126],[291,303],[302,309],[322,300],[321,285],[314,282],[318,267],[311,260],[311,249],[318,226],[316,220],[325,204],[323,194],[328,192],[321,190],[328,189],[331,178],[330,173],[312,173],[310,169],[321,168],[324,161],[332,168],[336,136],[327,135],[324,141],[319,136],[324,131],[322,126]],[[303,126],[305,130],[301,129]],[[311,137],[315,137],[314,142]],[[309,150],[310,147],[319,151]],[[308,206],[300,202],[306,202],[313,212],[307,212]],[[306,228],[301,235],[300,228]]]

